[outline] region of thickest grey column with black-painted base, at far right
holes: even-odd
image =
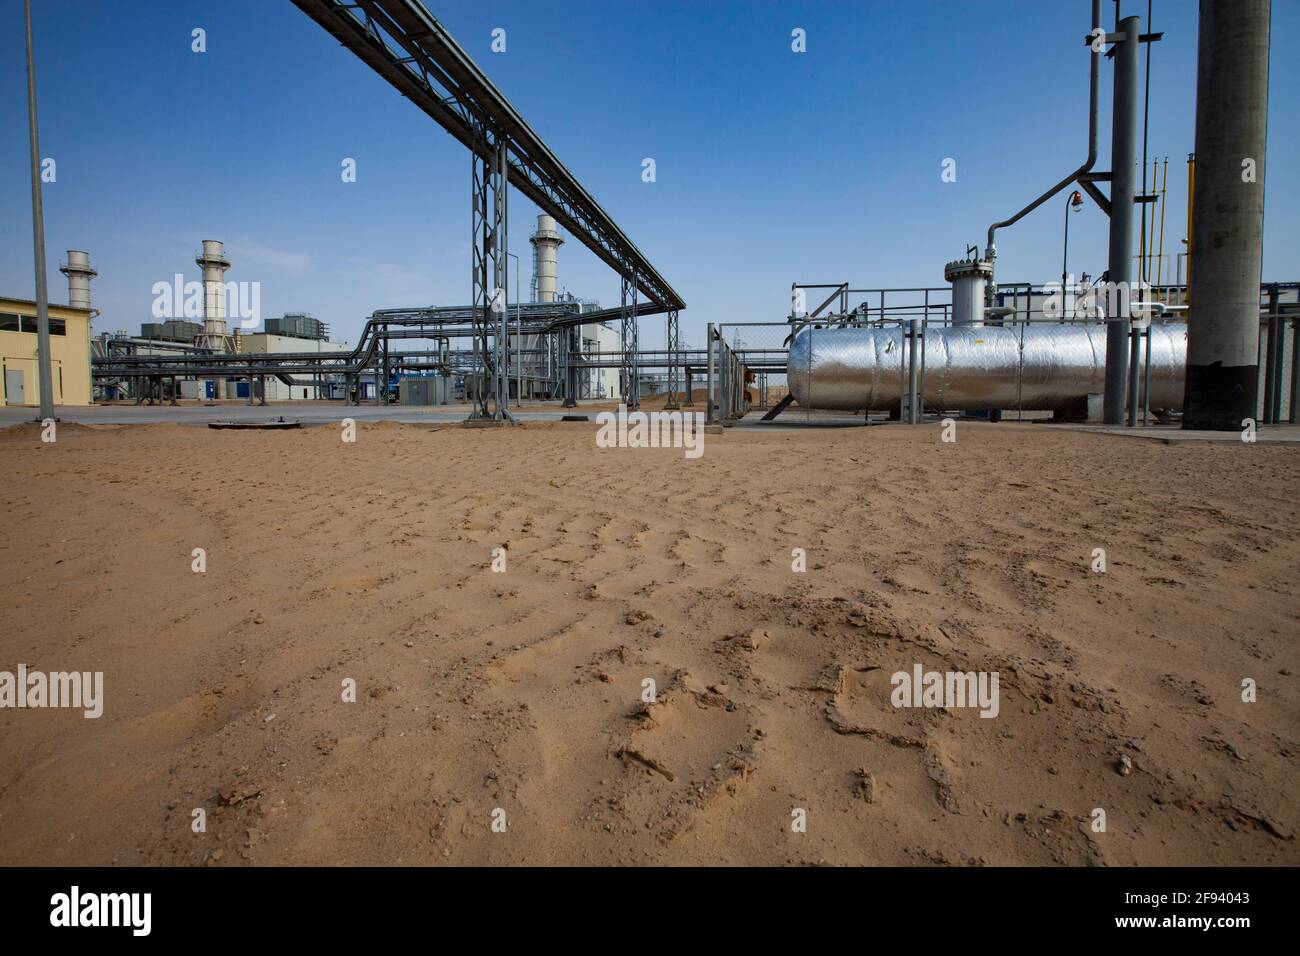
[[[1183,428],[1239,431],[1256,414],[1270,12],[1201,0]]]

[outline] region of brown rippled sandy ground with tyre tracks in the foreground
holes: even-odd
[[[0,432],[0,864],[1300,862],[1300,450],[593,433]]]

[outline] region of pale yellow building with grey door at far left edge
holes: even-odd
[[[55,405],[90,405],[90,312],[49,306],[49,381]],[[0,297],[0,363],[4,403],[40,405],[36,303]]]

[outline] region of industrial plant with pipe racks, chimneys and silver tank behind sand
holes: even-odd
[[[1252,317],[1249,329],[1238,329],[1230,342],[1206,332],[1201,334],[1209,338],[1197,341],[1193,334],[1188,345],[1196,228],[1202,235],[1221,235],[1225,229],[1257,232],[1262,219],[1264,190],[1247,189],[1262,185],[1262,170],[1243,177],[1235,157],[1238,152],[1264,153],[1266,108],[1226,107],[1228,116],[1219,117],[1209,114],[1212,107],[1205,104],[1199,122],[1210,151],[1201,147],[1187,161],[1190,216],[1183,245],[1188,251],[1166,254],[1169,160],[1164,173],[1158,160],[1149,160],[1147,130],[1139,122],[1141,51],[1161,35],[1141,34],[1136,17],[1117,22],[1108,33],[1100,0],[1091,4],[1089,42],[1079,55],[1088,61],[1084,161],[1024,208],[993,222],[983,250],[971,247],[966,258],[942,267],[936,263],[936,277],[941,271],[945,285],[885,290],[854,287],[852,281],[796,281],[784,319],[710,323],[703,349],[682,347],[681,297],[432,14],[407,4],[393,9],[334,3],[299,7],[469,150],[474,258],[469,299],[454,306],[378,308],[352,347],[329,341],[325,326],[307,313],[268,319],[263,330],[246,334],[226,317],[228,299],[239,294],[226,278],[235,264],[221,241],[203,239],[194,260],[202,271],[202,299],[195,293],[194,313],[142,323],[138,336],[98,333],[90,346],[91,392],[73,393],[70,401],[64,398],[66,403],[84,403],[94,394],[134,402],[243,398],[389,405],[402,403],[406,395],[408,403],[467,403],[467,418],[473,420],[512,421],[511,406],[524,402],[572,408],[578,401],[599,398],[636,408],[642,395],[662,393],[667,407],[675,408],[692,405],[692,386],[703,381],[708,393],[703,411],[710,423],[723,424],[742,419],[755,399],[767,412],[764,421],[797,402],[802,408],[863,412],[864,420],[874,411],[888,412],[910,424],[946,412],[979,412],[997,420],[1004,411],[1128,427],[1160,421],[1232,431],[1244,419],[1295,423],[1300,280],[1252,280],[1247,290],[1239,278],[1234,300],[1249,298],[1252,316],[1258,311],[1258,328]],[[1252,57],[1256,73],[1234,79],[1266,85],[1258,62]],[[1098,168],[1102,69],[1113,74],[1110,172]],[[1201,82],[1213,82],[1206,73]],[[448,109],[448,101],[458,108]],[[1221,134],[1222,129],[1234,135]],[[1217,189],[1226,176],[1217,164],[1230,160],[1234,189],[1243,193],[1239,204],[1245,206],[1236,220],[1225,224],[1219,206],[1202,200],[1197,220],[1191,185],[1199,182],[1202,194]],[[1161,174],[1164,185],[1157,189]],[[529,237],[532,294],[526,302],[512,300],[507,276],[511,187],[545,211]],[[1013,282],[997,276],[997,230],[1010,229],[1062,194],[1075,208],[1092,202],[1110,219],[1109,268],[1078,280],[1063,273],[1060,281]],[[602,308],[559,291],[566,233],[615,269],[623,289],[618,306]],[[1208,239],[1201,248],[1202,268],[1195,278],[1214,280],[1209,293],[1214,302],[1227,294],[1217,269],[1228,268],[1238,277],[1260,272],[1253,268],[1260,263],[1258,250],[1232,251],[1230,265],[1219,267],[1216,256],[1228,252]],[[1253,256],[1244,269],[1242,256]],[[68,276],[68,308],[90,310],[90,280],[96,272],[88,254],[69,251],[61,271]],[[178,273],[178,285],[181,280]],[[809,297],[815,300],[823,293],[829,294],[810,308]],[[178,290],[176,299],[181,298]],[[1236,308],[1240,312],[1244,306]],[[651,336],[645,320],[659,330]],[[645,342],[642,324],[647,325]],[[776,334],[774,326],[780,325],[786,328]],[[728,343],[728,330],[751,343]],[[1236,364],[1222,364],[1223,350]],[[14,393],[6,392],[6,403],[31,405],[39,385],[35,369],[22,363],[34,352],[31,347],[17,351]],[[1197,372],[1188,380],[1188,355],[1196,359],[1193,367],[1218,371]],[[1232,382],[1226,392],[1219,376]],[[403,386],[407,381],[415,384]],[[1216,385],[1202,388],[1209,381]],[[784,386],[777,389],[785,393],[781,407],[767,406],[772,384]],[[1222,406],[1226,394],[1231,410]],[[1191,415],[1183,415],[1184,398],[1192,402]],[[1204,407],[1196,405],[1201,401]]]

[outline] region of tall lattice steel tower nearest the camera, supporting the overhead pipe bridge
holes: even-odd
[[[488,138],[486,130],[480,127]],[[506,291],[507,195],[510,193],[506,144],[494,138],[491,160],[471,153],[471,298],[474,356],[484,369],[476,382],[471,419],[514,421],[510,412],[510,303]],[[490,339],[490,341],[489,341]],[[489,397],[491,402],[489,403]]]

